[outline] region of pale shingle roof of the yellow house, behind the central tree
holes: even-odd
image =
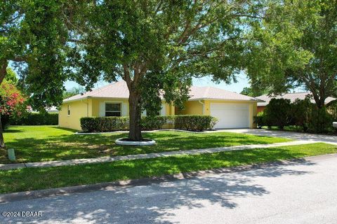
[[[63,102],[71,102],[79,99],[85,99],[87,97],[105,97],[105,98],[119,98],[128,99],[128,87],[124,80],[119,82],[100,87],[90,92],[84,94],[77,94],[73,97],[65,99]],[[223,99],[223,100],[239,100],[239,101],[259,101],[256,98],[248,97],[243,94],[236,92],[230,92],[227,90],[222,90],[217,87],[197,87],[192,86],[190,90],[189,100],[199,100],[199,99]]]

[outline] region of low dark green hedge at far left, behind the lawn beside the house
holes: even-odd
[[[58,113],[27,113],[20,118],[9,118],[8,125],[58,125]]]

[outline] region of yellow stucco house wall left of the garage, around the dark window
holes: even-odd
[[[105,102],[120,102],[122,104],[121,116],[128,116],[128,99],[88,98],[62,104],[58,115],[58,124],[60,127],[81,130],[81,118],[105,116],[103,106]],[[70,116],[67,115],[68,105],[70,105]],[[174,106],[165,104],[165,115],[173,116],[174,114]]]

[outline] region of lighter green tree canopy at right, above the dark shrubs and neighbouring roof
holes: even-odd
[[[247,73],[270,91],[310,90],[319,108],[337,95],[337,1],[269,1],[251,29]]]

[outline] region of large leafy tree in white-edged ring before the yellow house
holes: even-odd
[[[242,69],[244,29],[258,19],[258,1],[100,1],[74,24],[74,80],[122,78],[129,90],[129,139],[140,140],[140,115],[165,101],[182,106],[191,78],[229,83]]]

